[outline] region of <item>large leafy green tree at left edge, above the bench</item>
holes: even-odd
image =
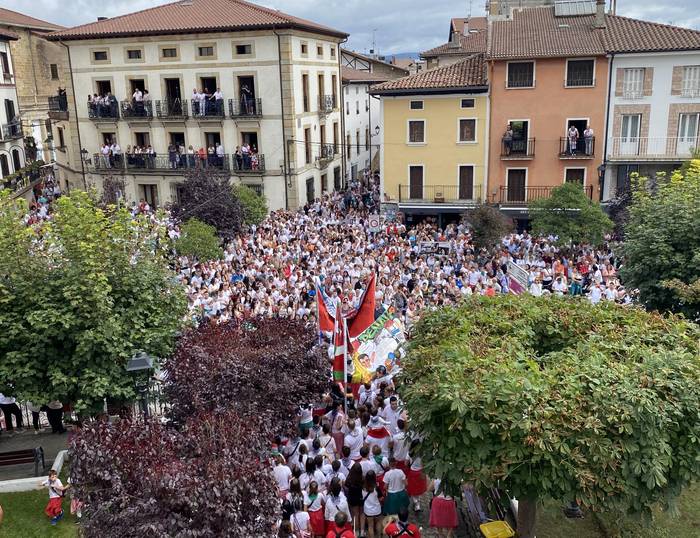
[[[0,390],[78,410],[133,396],[128,359],[167,356],[186,301],[162,229],[86,193],[61,197],[41,228],[0,197]]]

